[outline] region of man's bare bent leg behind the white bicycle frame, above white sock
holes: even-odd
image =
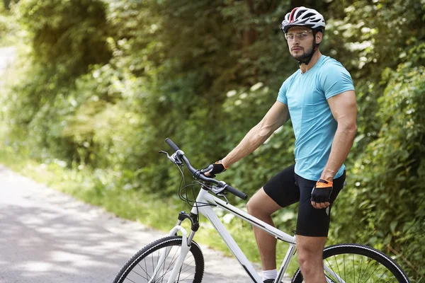
[[[261,189],[251,197],[251,200],[246,204],[246,208],[248,209],[248,213],[252,216],[274,226],[271,214],[282,207],[276,204],[261,187]],[[276,238],[261,231],[255,226],[253,226],[253,228],[256,243],[259,247],[261,262],[263,263],[263,270],[276,270]]]

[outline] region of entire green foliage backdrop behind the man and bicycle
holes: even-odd
[[[412,280],[424,277],[424,1],[301,2],[324,12],[322,53],[350,71],[358,97],[348,186],[329,239],[395,250]],[[1,98],[15,137],[5,144],[31,149],[40,162],[108,175],[100,194],[105,186],[176,195],[179,171],[157,154],[169,150],[162,141],[171,137],[201,168],[261,120],[297,68],[279,29],[292,6],[21,0],[11,13],[28,50]],[[294,139],[288,123],[223,178],[254,194],[293,163]],[[293,230],[296,210],[276,214],[276,225]]]

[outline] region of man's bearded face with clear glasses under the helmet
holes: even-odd
[[[314,49],[314,36],[310,28],[293,27],[285,35],[290,54],[297,60],[304,59]],[[322,40],[322,33],[317,33],[316,42]]]

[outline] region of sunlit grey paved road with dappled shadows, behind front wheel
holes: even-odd
[[[0,166],[0,283],[111,282],[162,236]],[[250,282],[236,260],[203,253],[203,282]]]

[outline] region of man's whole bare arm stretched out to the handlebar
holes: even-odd
[[[288,105],[276,101],[263,117],[263,120],[245,135],[244,139],[242,139],[237,147],[230,151],[225,158],[222,158],[222,164],[229,167],[236,161],[251,154],[251,152],[263,144],[276,129],[288,121],[289,117]]]

